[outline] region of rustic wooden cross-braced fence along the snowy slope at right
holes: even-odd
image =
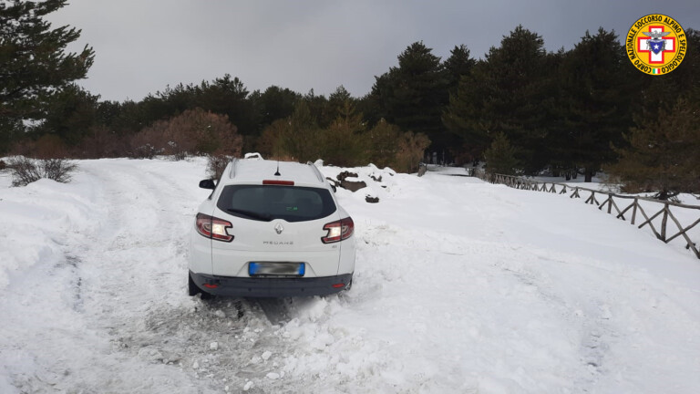
[[[690,235],[688,234],[692,228],[700,223],[700,218],[695,220],[695,222],[690,225],[683,226],[675,217],[674,213],[671,212],[671,207],[677,207],[679,209],[696,210],[698,213],[697,216],[700,216],[700,206],[676,202],[664,202],[646,197],[616,194],[612,192],[602,192],[579,186],[571,186],[564,183],[534,181],[527,178],[510,175],[488,174],[485,171],[472,171],[472,175],[479,177],[483,181],[488,181],[490,183],[501,183],[515,189],[567,194],[570,198],[582,199],[585,197],[585,202],[587,204],[596,205],[599,210],[602,211],[604,209],[607,213],[614,214],[618,219],[627,221],[627,217],[625,217],[625,215],[628,215],[630,216],[630,223],[636,225],[638,228],[651,228],[654,235],[656,235],[656,238],[666,244],[678,237],[683,237],[686,242],[685,249],[692,250],[693,253],[695,253],[695,256],[700,258],[698,245],[691,241]],[[615,201],[615,199],[617,199],[617,201]],[[660,206],[660,209],[659,211],[656,211],[656,208],[654,208],[653,211],[650,211],[650,213],[654,212],[654,214],[649,215],[647,214],[647,211],[644,211],[644,208],[640,202],[654,203],[647,204],[647,211],[651,205]],[[618,203],[620,204],[618,205]],[[659,227],[657,229],[654,226],[653,221],[659,216],[661,216],[661,223],[657,223]],[[671,222],[669,222],[669,219]],[[642,223],[637,224],[638,222]],[[677,233],[672,234],[672,232],[675,232],[676,230]]]

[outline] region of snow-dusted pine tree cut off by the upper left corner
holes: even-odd
[[[22,119],[42,119],[47,99],[70,82],[85,78],[94,52],[66,53],[80,30],[52,28],[44,17],[67,0],[0,3],[0,151],[7,149]]]

